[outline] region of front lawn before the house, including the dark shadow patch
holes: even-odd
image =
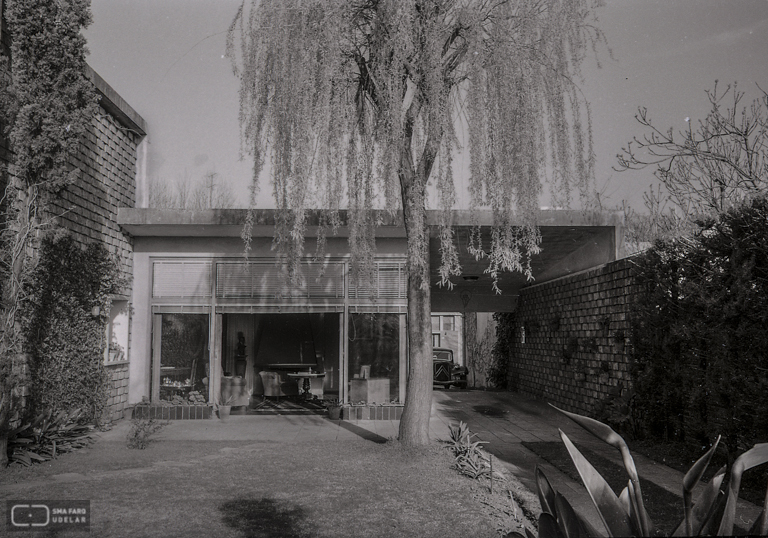
[[[393,442],[101,441],[0,471],[0,499],[89,499],[99,537],[498,536],[450,464]]]

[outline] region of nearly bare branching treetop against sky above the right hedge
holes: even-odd
[[[663,229],[768,193],[768,94],[743,105],[736,84],[720,92],[715,82],[706,93],[709,114],[697,127],[687,120],[688,128],[677,133],[657,127],[641,108],[635,117],[647,133],[617,156],[620,169],[655,167],[664,192],[651,192],[646,205]],[[664,211],[667,200],[672,212]]]

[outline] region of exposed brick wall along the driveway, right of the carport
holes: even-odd
[[[635,289],[626,258],[523,288],[510,389],[591,414],[611,390],[628,386]]]

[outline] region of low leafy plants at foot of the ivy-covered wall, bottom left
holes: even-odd
[[[52,410],[37,415],[8,433],[8,459],[11,463],[32,465],[54,459],[93,442],[93,426],[84,424],[80,409],[71,412]]]

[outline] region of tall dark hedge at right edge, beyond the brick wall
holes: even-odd
[[[636,258],[636,414],[657,438],[768,440],[768,200],[697,222]]]

